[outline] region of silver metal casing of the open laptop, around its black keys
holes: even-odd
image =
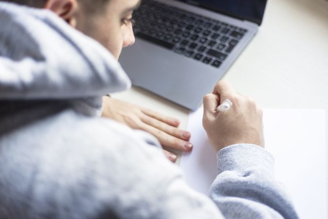
[[[210,50],[210,52],[203,51],[201,53],[204,56],[208,56],[208,59],[213,58],[210,61],[212,64],[205,64],[205,61],[196,60],[195,57],[184,55],[180,51],[177,52],[177,48],[179,48],[178,43],[177,45],[175,44],[174,48],[168,49],[165,47],[166,44],[163,47],[154,43],[156,42],[154,41],[156,40],[155,37],[151,38],[153,41],[149,41],[147,36],[144,35],[144,37],[138,37],[137,34],[135,44],[123,49],[120,62],[134,86],[144,88],[190,110],[196,110],[202,103],[204,95],[214,88],[216,82],[222,78],[256,34],[259,24],[229,17],[178,0],[156,0],[156,2],[165,3],[173,8],[182,9],[247,30],[238,44],[230,51],[230,54],[224,60],[219,59],[222,61],[219,67],[213,66],[215,65],[214,59],[217,59],[218,55],[213,50],[217,50],[216,48],[220,44],[219,39],[217,39],[217,44],[213,46],[212,50],[207,48],[207,51]],[[211,40],[210,36],[205,38]],[[191,40],[189,43],[191,43]],[[203,57],[203,59],[205,58]]]

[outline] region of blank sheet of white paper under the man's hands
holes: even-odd
[[[183,153],[186,182],[208,194],[217,161],[202,127],[203,109],[190,114],[194,148]],[[301,219],[326,219],[325,110],[264,110],[265,148],[275,157],[276,177],[285,184]]]

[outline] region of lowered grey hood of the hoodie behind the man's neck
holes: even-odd
[[[130,88],[101,44],[49,10],[0,1],[0,99],[83,99]]]

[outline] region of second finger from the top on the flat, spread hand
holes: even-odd
[[[142,122],[146,123],[147,125],[155,127],[161,131],[164,131],[169,135],[172,135],[174,137],[177,137],[177,138],[180,138],[180,139],[183,139],[186,141],[189,141],[189,139],[190,139],[190,132],[170,126],[170,125],[168,125],[164,122],[161,122],[153,117],[144,115],[144,116],[141,116],[140,119]]]

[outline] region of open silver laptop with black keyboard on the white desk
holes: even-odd
[[[256,34],[267,0],[142,0],[123,69],[134,86],[196,110]]]

